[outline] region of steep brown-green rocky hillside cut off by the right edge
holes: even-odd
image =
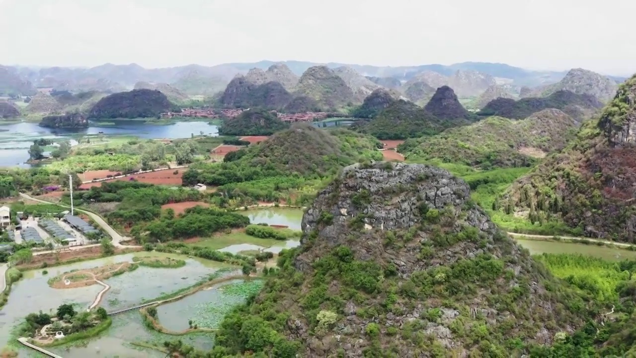
[[[499,201],[587,236],[636,242],[636,76],[621,85],[577,141],[516,182]],[[539,195],[540,194],[540,195]]]

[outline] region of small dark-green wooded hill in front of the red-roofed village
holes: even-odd
[[[219,134],[230,136],[270,136],[289,128],[289,123],[280,120],[266,110],[247,110],[234,118],[223,121]]]

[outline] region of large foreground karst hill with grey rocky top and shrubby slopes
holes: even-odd
[[[286,320],[270,334],[282,341],[272,338],[265,355],[487,356],[513,337],[550,344],[571,332],[581,320],[565,288],[469,197],[466,183],[431,166],[343,169],[305,211],[300,248],[281,255],[280,273],[233,318],[242,321],[224,326],[219,345],[244,352],[240,341],[254,335],[242,322],[270,324],[280,313]],[[474,327],[488,345],[468,338]]]

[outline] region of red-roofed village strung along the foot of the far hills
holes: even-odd
[[[225,108],[225,109],[216,109],[216,108],[184,108],[181,112],[166,112],[162,113],[162,118],[234,118],[243,111],[249,110],[249,108]],[[272,111],[272,113],[276,113],[277,117],[284,122],[312,122],[314,120],[321,120],[328,117],[346,117],[342,113],[330,113],[330,112],[304,112],[304,113],[279,113],[277,111]]]

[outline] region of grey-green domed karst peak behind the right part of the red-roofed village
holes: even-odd
[[[313,98],[325,109],[338,109],[356,102],[356,94],[327,66],[308,68],[300,76],[294,94]]]

